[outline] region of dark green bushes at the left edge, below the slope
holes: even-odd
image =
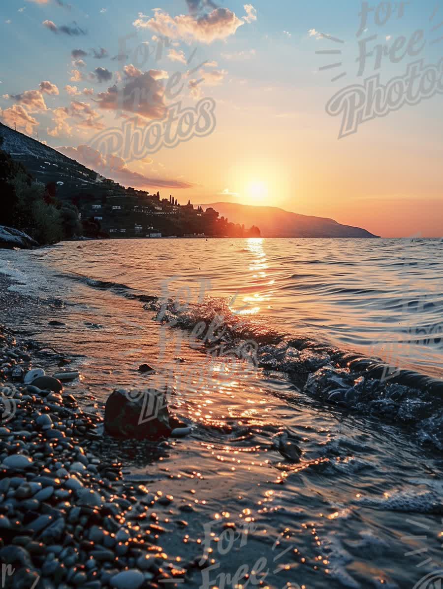
[[[2,145],[0,137],[0,147]],[[23,164],[0,149],[0,224],[25,231],[39,244],[81,235],[78,210],[56,199],[56,184],[34,180]]]

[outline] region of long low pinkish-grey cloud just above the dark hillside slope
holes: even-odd
[[[116,155],[108,155],[104,158],[102,154],[89,145],[78,145],[78,147],[57,147],[57,151],[79,161],[86,167],[102,174],[105,177],[112,177],[124,186],[138,188],[191,188],[193,185],[179,180],[167,180],[164,178],[149,178],[138,172],[132,171],[126,166],[123,158]]]

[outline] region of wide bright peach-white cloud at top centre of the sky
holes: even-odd
[[[244,21],[228,8],[215,8],[212,12],[201,16],[181,14],[174,17],[156,8],[152,18],[141,15],[133,24],[136,28],[148,28],[169,39],[209,44],[217,40],[224,41],[234,35]]]

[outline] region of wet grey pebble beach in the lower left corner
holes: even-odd
[[[4,326],[0,358],[0,559],[15,568],[5,587],[32,587],[42,575],[85,589],[183,578],[185,570],[149,544],[161,495],[124,483],[122,464],[104,460],[103,417],[83,411],[72,389],[19,382],[34,348]]]

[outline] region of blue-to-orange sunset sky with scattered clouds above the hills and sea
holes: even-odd
[[[442,236],[443,2],[251,2],[2,0],[0,121],[179,203]]]

